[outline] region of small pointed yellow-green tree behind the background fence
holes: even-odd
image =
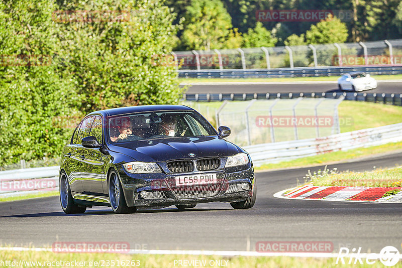
[[[278,41],[272,37],[271,33],[261,22],[257,22],[254,29],[249,28],[247,34],[243,34],[243,40],[243,46],[246,48],[273,47]]]

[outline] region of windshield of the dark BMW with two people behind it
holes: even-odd
[[[216,135],[211,124],[192,111],[146,112],[114,116],[108,123],[109,142]]]

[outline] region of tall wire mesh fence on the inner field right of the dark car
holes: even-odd
[[[338,99],[294,98],[224,101],[217,125],[230,126],[227,139],[239,146],[318,138],[340,132]]]

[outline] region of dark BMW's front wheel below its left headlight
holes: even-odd
[[[116,214],[133,213],[137,210],[135,207],[127,206],[123,187],[115,170],[109,173],[109,200],[112,210]]]

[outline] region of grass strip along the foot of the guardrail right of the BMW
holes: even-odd
[[[389,143],[379,146],[357,148],[349,151],[338,151],[327,154],[298,158],[291,161],[283,161],[280,163],[265,164],[260,167],[254,167],[256,171],[271,170],[271,169],[285,169],[285,168],[301,168],[311,166],[322,166],[326,164],[333,164],[343,162],[346,160],[357,159],[361,157],[374,156],[376,154],[384,154],[392,151],[402,150],[402,142]]]

